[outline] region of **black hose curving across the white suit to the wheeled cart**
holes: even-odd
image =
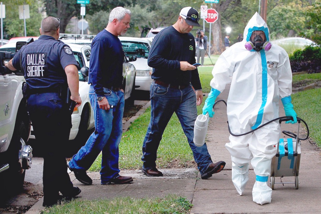
[[[225,102],[225,100],[220,99],[220,100],[217,100],[217,101],[214,103],[213,108],[214,108],[214,106],[215,106],[218,102],[223,102],[223,103],[225,103],[225,105],[227,106],[227,103]],[[260,125],[260,126],[257,127],[256,129],[253,129],[253,130],[251,130],[251,131],[249,131],[249,132],[247,132],[247,133],[242,133],[242,134],[233,134],[233,133],[231,132],[231,130],[230,130],[229,121],[227,121],[227,124],[228,124],[228,128],[229,128],[229,133],[230,133],[231,135],[233,135],[233,136],[239,137],[239,136],[243,136],[243,135],[247,135],[247,134],[249,134],[249,133],[252,133],[252,132],[256,131],[257,129],[260,129],[260,128],[262,128],[263,126],[265,126],[265,125],[267,125],[267,124],[269,124],[269,123],[272,123],[272,122],[274,122],[274,121],[276,121],[276,120],[279,120],[279,123],[281,124],[282,121],[293,120],[293,117],[289,117],[289,116],[278,117],[278,118],[275,118],[275,119],[273,119],[273,120],[270,120],[269,122],[267,122],[267,123],[265,123],[265,124],[263,124],[263,125]],[[300,121],[302,121],[302,122],[305,124],[305,126],[307,127],[307,132],[308,132],[306,138],[299,138],[299,140],[300,140],[300,141],[307,140],[308,137],[309,137],[309,127],[308,127],[308,124],[307,124],[303,119],[301,119],[301,118],[299,118],[299,117],[297,117],[297,120],[298,120],[298,123],[300,123]],[[294,134],[294,133],[292,133],[292,132],[290,132],[290,131],[282,131],[282,133],[284,133],[285,135],[287,135],[287,136],[289,136],[289,137],[291,137],[291,138],[297,138],[297,135]]]

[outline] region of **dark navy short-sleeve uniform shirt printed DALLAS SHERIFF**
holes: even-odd
[[[70,64],[78,67],[71,48],[62,41],[46,35],[23,46],[13,57],[12,64],[17,70],[22,67],[30,89],[67,85],[65,67]]]

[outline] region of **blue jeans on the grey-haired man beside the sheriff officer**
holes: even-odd
[[[69,162],[70,168],[75,171],[87,170],[102,151],[100,170],[102,184],[119,175],[118,145],[123,133],[122,120],[125,105],[124,92],[104,88],[104,93],[109,106],[114,106],[109,110],[99,108],[95,91],[92,85],[90,86],[89,98],[95,116],[95,131]]]

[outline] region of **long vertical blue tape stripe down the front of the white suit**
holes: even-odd
[[[260,51],[260,54],[262,64],[262,104],[257,113],[256,123],[251,127],[252,129],[256,129],[262,123],[264,107],[267,99],[267,63],[264,49]]]

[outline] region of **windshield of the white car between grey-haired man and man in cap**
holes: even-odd
[[[126,56],[134,55],[137,56],[137,58],[147,59],[150,49],[148,43],[134,41],[121,41],[121,43],[123,44]]]

